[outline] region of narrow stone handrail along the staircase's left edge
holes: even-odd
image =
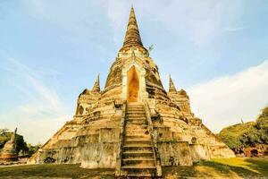
[[[125,136],[125,120],[126,120],[126,109],[127,109],[127,102],[124,101],[122,105],[122,114],[121,114],[121,128],[120,128],[120,147],[118,154],[116,156],[116,166],[115,166],[115,175],[121,175],[121,158],[123,152],[123,142]]]

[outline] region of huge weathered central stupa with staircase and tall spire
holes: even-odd
[[[163,88],[158,67],[143,46],[133,7],[123,45],[105,88],[99,76],[83,90],[71,121],[29,163],[114,168],[117,176],[161,176],[162,166],[230,158],[234,153],[196,117],[185,90]]]

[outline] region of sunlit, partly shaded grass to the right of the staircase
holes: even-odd
[[[194,166],[163,167],[165,178],[266,178],[268,160],[264,158],[222,158],[200,161]]]

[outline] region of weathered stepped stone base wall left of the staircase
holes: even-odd
[[[121,108],[99,104],[83,120],[74,118],[39,149],[29,163],[81,163],[82,167],[113,168],[119,149]]]

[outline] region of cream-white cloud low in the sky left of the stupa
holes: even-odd
[[[44,104],[40,104],[43,102]],[[71,119],[70,115],[56,115],[50,112],[51,110],[52,107],[48,107],[46,101],[29,102],[13,107],[0,114],[0,128],[13,131],[18,127],[18,133],[23,135],[25,141],[32,144],[45,143],[54,132]]]

